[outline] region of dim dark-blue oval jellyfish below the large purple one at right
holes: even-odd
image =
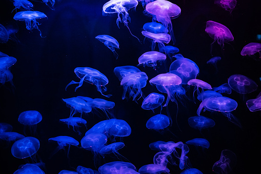
[[[204,116],[194,116],[188,119],[189,126],[195,129],[214,127],[215,122]]]

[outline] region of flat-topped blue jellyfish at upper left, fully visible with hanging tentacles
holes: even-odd
[[[38,28],[40,24],[36,22],[36,19],[45,17],[47,17],[45,13],[39,11],[20,11],[14,15],[14,20],[25,21],[27,30],[37,29],[40,32],[40,36],[43,37],[42,31]]]

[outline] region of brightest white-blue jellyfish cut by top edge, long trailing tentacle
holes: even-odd
[[[118,28],[119,28],[118,23],[121,22],[121,23],[124,23],[124,25],[130,31],[130,28],[128,26],[128,21],[130,22],[130,16],[129,16],[128,10],[130,10],[131,8],[135,9],[137,5],[138,5],[138,2],[136,0],[111,0],[104,4],[103,14],[107,15],[110,13],[117,13],[118,18],[116,20],[116,24],[117,24]],[[121,18],[120,14],[122,15],[122,18]],[[131,33],[131,31],[130,31],[130,33]],[[131,35],[136,37],[132,33],[131,33]],[[138,38],[137,38],[137,40],[139,41]]]

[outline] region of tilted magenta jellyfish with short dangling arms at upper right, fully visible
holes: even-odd
[[[208,21],[205,31],[209,34],[211,38],[214,39],[214,41],[211,44],[211,51],[214,42],[217,41],[218,45],[221,46],[221,48],[224,48],[225,42],[230,42],[234,40],[234,37],[230,30],[222,24],[219,24],[214,21]]]

